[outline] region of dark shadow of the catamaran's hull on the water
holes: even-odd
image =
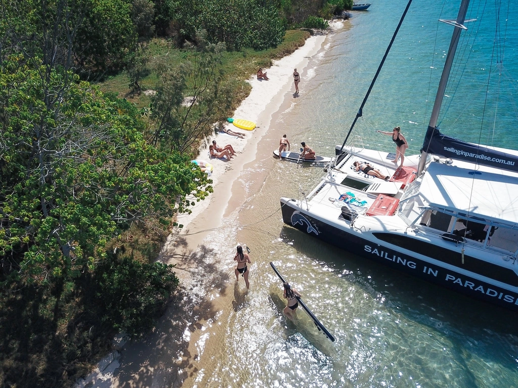
[[[308,258],[318,258],[322,265],[333,268],[336,276],[360,287],[386,309],[420,324],[463,336],[476,337],[482,331],[518,336],[513,311],[379,265],[287,226],[283,226],[280,237]],[[518,337],[515,342],[518,346]]]

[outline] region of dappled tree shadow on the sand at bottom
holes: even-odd
[[[153,333],[128,343],[122,350],[119,387],[143,388],[156,383],[179,387],[194,376],[199,355],[192,352],[195,347],[190,346],[191,342],[196,341],[205,322],[216,319],[218,312],[207,296],[214,292],[225,294],[229,274],[213,263],[213,249],[200,245],[192,251],[184,238],[176,238],[174,249],[164,251],[161,261],[174,259],[182,272],[181,291],[172,297]]]

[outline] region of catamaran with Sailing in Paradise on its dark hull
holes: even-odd
[[[281,198],[282,218],[344,250],[518,310],[518,152],[463,142],[437,127],[468,4],[462,0],[456,20],[441,20],[454,31],[421,154],[396,168],[394,154],[346,145],[376,75],[322,180],[307,195]]]

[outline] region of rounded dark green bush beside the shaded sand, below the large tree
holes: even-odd
[[[103,324],[136,336],[153,327],[179,280],[172,265],[109,257],[97,266],[94,283]]]

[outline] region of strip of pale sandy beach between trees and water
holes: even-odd
[[[341,25],[341,22],[337,22],[334,27]],[[223,219],[232,222],[229,215],[235,214],[247,200],[250,188],[240,180],[240,176],[258,155],[271,155],[271,146],[263,149],[261,140],[270,129],[272,116],[283,103],[286,104],[285,100],[289,98],[296,101],[304,95],[305,68],[310,58],[322,49],[325,37],[325,34],[313,35],[293,54],[275,61],[270,68],[265,69],[269,81],[257,80],[255,76],[249,79],[252,91],[233,117],[253,121],[257,126],[253,131],[246,131],[227,124],[229,129],[243,133],[245,137],[240,139],[220,133],[211,139],[216,140],[219,146],[231,144],[234,147],[236,157],[229,161],[210,159],[208,146],[200,151],[197,159],[213,165],[211,179],[214,192],[204,201],[197,202],[191,214],[178,217],[183,228],[169,236],[160,258],[176,265],[182,291],[169,304],[153,333],[141,340],[120,341],[114,345],[113,353],[99,363],[91,375],[78,381],[76,386],[203,386],[198,384],[204,376],[210,374],[206,361],[218,356],[219,336],[224,335],[208,336],[207,327],[217,325],[222,317],[236,307],[232,306],[228,298],[232,294],[232,284],[235,283],[233,271],[223,273],[218,270],[214,258],[223,252],[215,252],[204,241],[212,231],[218,230]],[[294,94],[294,68],[301,74],[300,96]],[[260,182],[255,185],[260,186]],[[235,250],[238,244],[236,235],[225,236],[225,240],[232,242],[230,245]],[[233,255],[232,252],[228,254]],[[200,272],[210,274],[209,278],[205,276],[204,281],[200,281]],[[242,283],[241,287],[244,287]],[[244,298],[244,294],[236,297],[236,292],[234,286],[232,296],[236,300]]]

